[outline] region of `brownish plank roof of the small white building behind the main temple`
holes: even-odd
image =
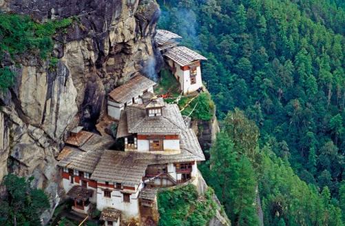
[[[109,97],[118,103],[125,103],[132,100],[133,97],[143,94],[145,90],[148,90],[154,85],[156,85],[156,83],[151,79],[137,74],[127,81],[127,83],[112,90],[112,92],[109,93]]]

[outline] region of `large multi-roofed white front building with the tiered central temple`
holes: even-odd
[[[127,107],[117,135],[125,141],[125,150],[109,150],[108,137],[103,140],[96,134],[79,147],[65,146],[58,157],[62,185],[74,201],[74,211],[87,214],[94,205],[104,225],[131,220],[154,225],[156,189],[198,176],[197,164],[205,161],[198,138],[177,105],[165,105],[155,97]]]

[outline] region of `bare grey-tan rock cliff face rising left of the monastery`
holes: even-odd
[[[0,181],[8,172],[34,176],[54,206],[54,157],[65,132],[78,124],[94,130],[107,92],[145,70],[159,8],[151,0],[0,0],[0,8],[41,22],[74,17],[66,34],[54,37],[54,70],[30,54],[2,62],[17,81],[0,94]]]

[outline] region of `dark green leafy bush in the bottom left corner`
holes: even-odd
[[[33,178],[5,176],[6,194],[0,201],[0,225],[41,225],[39,216],[50,207],[43,190],[32,188]]]

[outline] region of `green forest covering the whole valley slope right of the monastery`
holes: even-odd
[[[222,132],[201,171],[232,225],[260,224],[258,197],[264,225],[343,225],[344,1],[158,3],[158,28],[208,58]]]

